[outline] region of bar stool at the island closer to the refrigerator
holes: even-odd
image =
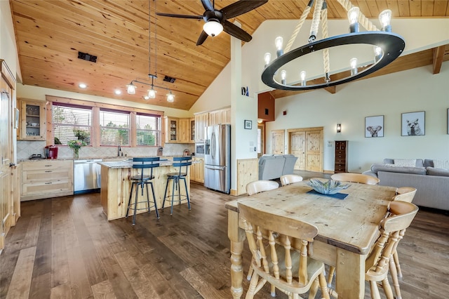
[[[187,176],[187,171],[190,165],[192,165],[192,156],[186,156],[186,157],[173,157],[173,167],[179,167],[179,171],[175,173],[167,173],[167,184],[166,184],[166,192],[163,194],[163,203],[162,203],[162,209],[163,206],[166,204],[166,199],[170,198],[167,197],[167,191],[168,191],[168,184],[170,184],[170,180],[173,180],[173,187],[171,192],[171,210],[170,215],[173,215],[173,202],[179,202],[181,204],[181,201],[187,200],[187,206],[190,210],[190,199],[189,199],[189,191],[187,190],[187,181],[185,180]],[[181,194],[181,186],[180,186],[180,180],[184,180],[185,185],[185,194]],[[177,193],[175,193],[175,190],[177,190]],[[175,200],[175,196],[177,196],[177,200]],[[168,199],[169,200],[169,199]]]

